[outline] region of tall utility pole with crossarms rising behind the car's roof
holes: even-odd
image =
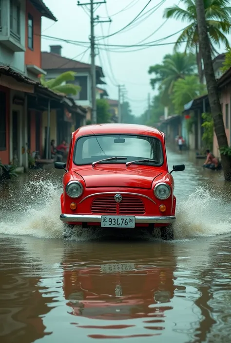
[[[97,23],[104,23],[104,22],[111,22],[110,20],[99,20],[99,17],[97,16],[94,18],[94,5],[99,5],[102,3],[106,3],[106,0],[104,1],[97,1],[94,2],[94,0],[90,0],[88,3],[80,3],[80,1],[77,1],[78,6],[87,6],[90,5],[90,23],[91,23],[91,37],[90,37],[90,42],[91,42],[91,80],[92,80],[92,123],[96,124],[97,123],[97,112],[96,112],[96,43],[95,43],[95,22]]]

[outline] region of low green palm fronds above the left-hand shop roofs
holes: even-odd
[[[76,72],[63,72],[62,74],[58,75],[55,79],[46,81],[44,75],[41,75],[40,82],[42,86],[45,86],[57,93],[64,93],[66,95],[77,95],[77,93],[81,90],[81,87],[71,83],[66,83],[69,81],[74,81],[75,76]],[[65,84],[63,84],[64,82]]]

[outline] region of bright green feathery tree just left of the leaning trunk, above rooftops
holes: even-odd
[[[206,86],[199,83],[197,76],[190,75],[178,79],[174,83],[172,95],[175,112],[181,114],[185,104],[203,94],[206,94]]]

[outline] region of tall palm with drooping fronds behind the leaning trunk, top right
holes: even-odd
[[[182,0],[186,9],[177,5],[168,7],[164,11],[164,18],[175,18],[182,21],[188,21],[189,25],[178,37],[174,50],[186,42],[185,52],[195,52],[197,58],[197,67],[200,82],[203,82],[202,56],[199,48],[199,36],[196,19],[195,0]],[[231,7],[229,0],[203,0],[205,7],[205,17],[207,23],[208,35],[211,42],[212,55],[217,54],[215,47],[220,47],[220,43],[229,48],[229,41],[225,34],[230,32],[231,28]]]

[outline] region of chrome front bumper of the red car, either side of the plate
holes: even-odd
[[[61,214],[60,220],[63,222],[87,222],[101,223],[101,215],[66,215]],[[175,216],[135,216],[135,224],[172,224],[175,221]]]

